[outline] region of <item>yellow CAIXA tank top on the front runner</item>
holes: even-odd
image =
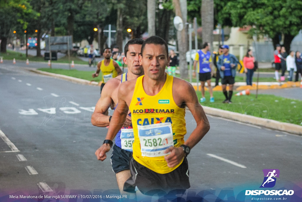
[[[163,151],[166,145],[179,147],[184,143],[187,133],[185,109],[178,107],[173,99],[173,76],[167,75],[164,86],[154,96],[145,93],[143,77],[137,78],[129,106],[134,132],[133,158],[154,172],[165,174],[175,170],[183,161],[170,168]]]

